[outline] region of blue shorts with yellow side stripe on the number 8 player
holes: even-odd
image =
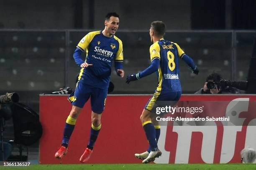
[[[182,92],[159,92],[155,91],[154,95],[148,100],[144,109],[151,111],[156,102],[158,101],[178,101]],[[172,105],[175,105],[176,102],[172,102]]]

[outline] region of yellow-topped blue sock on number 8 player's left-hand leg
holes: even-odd
[[[156,130],[154,128],[153,123],[151,121],[146,121],[142,125],[143,125],[143,129],[146,133],[149,145],[151,147],[151,151],[158,150],[157,142],[156,142]]]

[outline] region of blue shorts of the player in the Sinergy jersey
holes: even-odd
[[[105,107],[107,95],[108,89],[101,89],[82,82],[77,82],[74,96],[72,94],[69,95],[68,100],[72,105],[82,108],[91,97],[92,111],[101,114]]]

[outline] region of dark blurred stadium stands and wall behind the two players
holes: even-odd
[[[38,113],[39,94],[74,89],[79,72],[72,58],[75,46],[90,30],[103,30],[105,14],[112,11],[120,14],[116,36],[123,41],[125,75],[148,67],[150,23],[162,20],[166,39],[177,42],[200,70],[195,76],[180,61],[183,93],[199,90],[213,71],[227,80],[246,80],[256,29],[254,0],[156,2],[0,1],[0,95],[17,92],[20,102]],[[151,94],[156,88],[156,75],[127,85],[113,72],[111,81],[112,94]],[[11,138],[11,130],[6,131]]]

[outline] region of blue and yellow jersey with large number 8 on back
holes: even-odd
[[[179,80],[179,57],[184,55],[184,51],[177,43],[161,39],[151,45],[151,62],[160,59],[160,65],[157,71],[159,92],[179,92],[182,91]]]

